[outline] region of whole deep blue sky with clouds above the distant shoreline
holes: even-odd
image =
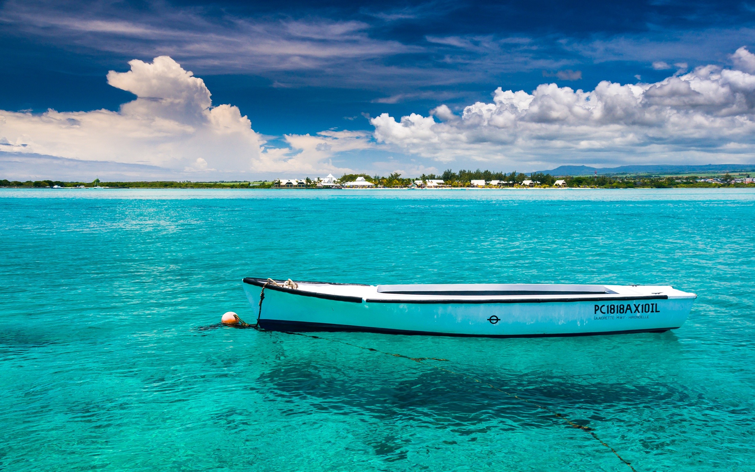
[[[0,171],[10,159],[19,176],[25,161],[27,174],[37,175],[35,159],[41,156],[45,162],[91,162],[93,171],[97,162],[121,162],[122,177],[133,178],[149,177],[143,167],[134,166],[151,165],[163,169],[156,177],[192,180],[325,171],[417,174],[468,167],[532,171],[559,164],[755,161],[750,157],[750,123],[742,124],[752,118],[752,110],[730,111],[732,103],[749,103],[750,89],[742,85],[747,77],[731,85],[734,79],[728,76],[711,79],[704,75],[708,72],[695,72],[701,66],[747,76],[755,72],[748,69],[745,54],[755,43],[755,2],[7,1],[0,3],[0,22],[5,52],[0,144],[6,148]],[[152,88],[109,83],[109,71],[131,73],[129,61],[150,64],[161,56],[176,64],[163,70],[191,71],[202,79],[211,93],[211,104],[202,113],[229,104],[248,117],[251,134],[239,128],[233,139],[223,141],[217,129],[207,128],[202,137],[199,125],[176,115],[183,112],[149,108],[152,114],[145,115],[142,105],[149,100],[168,100],[153,97]],[[153,76],[154,70],[144,71],[150,83],[163,80]],[[674,85],[678,78],[683,85],[692,84],[692,91],[680,92]],[[693,92],[705,93],[709,87],[704,81],[722,88],[716,97],[730,94],[728,107],[712,96],[688,100]],[[638,98],[643,118],[582,117],[580,110],[596,100],[613,103],[597,92],[601,82],[646,84],[643,91],[624,90],[644,94]],[[547,84],[557,88],[533,92]],[[174,83],[171,90],[181,86]],[[499,95],[494,102],[499,87],[535,98],[521,102]],[[564,88],[595,93],[592,98],[567,97]],[[656,90],[666,98],[659,101]],[[682,96],[687,97],[684,103]],[[538,118],[532,110],[548,100],[578,108],[562,117],[549,109]],[[120,106],[129,102],[134,105],[127,119]],[[710,108],[713,102],[716,110]],[[497,103],[498,109],[467,109],[475,103]],[[442,110],[437,108],[441,105]],[[69,128],[45,128],[48,109]],[[106,117],[116,120],[108,126],[119,134],[112,131],[104,139],[96,123],[87,124],[102,116],[60,115],[100,109],[120,113]],[[432,116],[430,110],[435,110]],[[506,113],[516,117],[501,121]],[[704,129],[715,132],[686,133],[689,127],[681,118],[658,121],[669,114],[689,122],[708,120]],[[150,128],[144,119],[154,122],[168,115],[171,129],[181,131],[165,128],[162,137],[137,142],[144,133],[134,131],[134,120]],[[402,120],[404,116],[424,121]],[[553,125],[554,120],[560,124]],[[533,128],[535,122],[542,126]],[[195,131],[187,131],[189,125]],[[599,130],[587,132],[585,126]],[[51,133],[60,137],[42,136]],[[165,137],[170,133],[172,138]],[[722,135],[729,138],[721,140]],[[72,136],[79,141],[74,143]],[[187,136],[195,139],[190,151],[179,144]],[[143,159],[108,149],[108,141],[132,147],[132,154]],[[198,150],[200,142],[209,144]],[[255,150],[247,152],[245,146]],[[152,156],[158,147],[162,150]],[[239,153],[233,164],[215,159],[231,152]],[[57,172],[66,174],[63,164]],[[80,172],[80,166],[75,168]]]

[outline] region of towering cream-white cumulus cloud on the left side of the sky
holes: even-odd
[[[363,135],[286,137],[288,149],[265,149],[263,137],[232,105],[212,106],[205,82],[168,56],[110,71],[109,85],[137,98],[119,111],[42,114],[0,110],[2,151],[91,162],[153,165],[176,174],[220,175],[335,171],[332,153],[368,147]],[[309,142],[328,143],[310,150]],[[330,143],[336,141],[337,143]],[[355,143],[359,143],[356,145]],[[314,145],[316,148],[316,144]],[[51,176],[54,177],[54,176]]]

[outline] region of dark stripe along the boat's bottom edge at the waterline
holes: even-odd
[[[629,335],[633,333],[662,333],[673,328],[653,329],[626,329],[624,331],[602,331],[581,333],[559,333],[543,335],[466,335],[460,333],[440,333],[430,331],[409,331],[406,329],[373,328],[370,326],[334,325],[331,323],[318,323],[309,321],[289,321],[285,319],[260,319],[260,328],[268,331],[281,332],[366,332],[380,333],[384,335],[414,335],[414,336],[453,336],[455,338],[570,338],[573,336],[599,336],[599,335]]]

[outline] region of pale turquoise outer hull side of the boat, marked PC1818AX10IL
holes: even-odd
[[[244,284],[259,307],[260,286]],[[489,338],[664,332],[679,328],[693,298],[666,295],[559,300],[378,300],[323,295],[270,286],[257,320],[286,332],[346,331]]]

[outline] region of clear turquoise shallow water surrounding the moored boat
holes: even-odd
[[[254,319],[244,276],[670,284],[675,332],[328,334],[595,428],[636,470],[752,470],[747,190],[0,190],[3,470],[630,470],[473,381]],[[432,361],[431,361],[432,362]]]

